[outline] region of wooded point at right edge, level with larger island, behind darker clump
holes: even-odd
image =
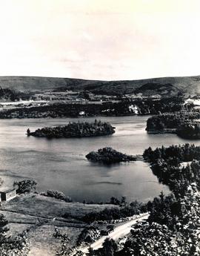
[[[151,116],[147,119],[147,131],[163,131],[164,129],[177,129],[186,122],[193,123],[200,118],[200,111],[179,111]]]

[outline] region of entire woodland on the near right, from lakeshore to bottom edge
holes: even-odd
[[[105,240],[103,248],[89,256],[199,256],[200,255],[200,146],[173,145],[147,148],[144,159],[172,194],[147,203],[150,212],[145,223],[138,223],[119,247]],[[188,164],[185,164],[187,162]]]

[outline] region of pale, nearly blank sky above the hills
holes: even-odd
[[[200,75],[199,0],[0,0],[0,76]]]

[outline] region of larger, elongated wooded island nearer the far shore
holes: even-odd
[[[47,138],[96,137],[115,133],[115,128],[108,122],[69,122],[67,125],[44,127],[30,132],[27,136]]]

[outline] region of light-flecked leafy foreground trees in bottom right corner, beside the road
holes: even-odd
[[[124,248],[113,255],[199,256],[199,203],[195,185],[187,186],[184,197],[156,198],[148,222],[135,226]]]

